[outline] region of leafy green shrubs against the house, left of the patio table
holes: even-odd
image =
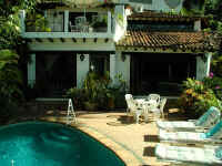
[[[97,103],[99,110],[124,107],[125,81],[117,75],[118,84],[113,85],[109,72],[100,76],[90,71],[81,89],[71,87],[67,96],[73,98],[75,108],[83,108],[84,102]]]

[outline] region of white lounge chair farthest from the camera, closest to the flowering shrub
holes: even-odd
[[[221,111],[211,106],[200,118],[189,121],[157,121],[157,126],[162,129],[193,131],[209,128],[216,124],[221,118]]]

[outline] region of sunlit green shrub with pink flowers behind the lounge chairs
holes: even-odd
[[[203,82],[188,79],[183,82],[184,90],[179,98],[181,108],[189,115],[201,115],[210,106],[216,106],[220,110],[221,101],[216,98],[213,90],[209,89]]]

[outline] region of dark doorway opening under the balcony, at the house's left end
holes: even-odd
[[[37,53],[39,97],[62,97],[77,83],[77,56],[73,52]]]

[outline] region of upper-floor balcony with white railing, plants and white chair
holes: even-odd
[[[113,38],[111,12],[46,11],[44,17],[21,14],[22,37]]]

